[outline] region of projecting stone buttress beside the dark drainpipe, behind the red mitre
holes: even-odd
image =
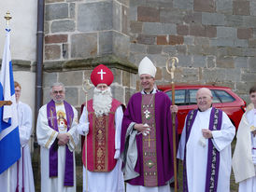
[[[115,75],[113,96],[126,103],[135,92],[137,71],[129,61],[128,11],[127,0],[46,1],[45,89],[61,81],[67,86],[67,100],[79,106],[85,102],[83,80],[102,63]]]

